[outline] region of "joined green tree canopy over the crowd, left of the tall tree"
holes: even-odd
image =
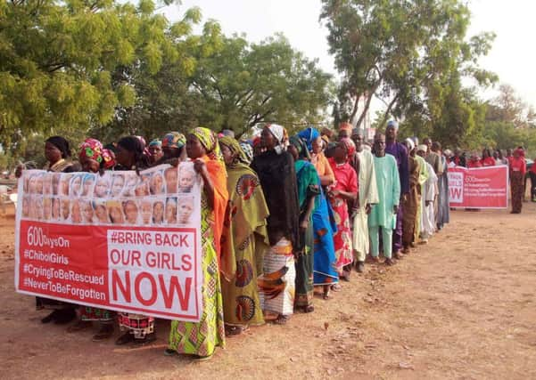
[[[156,12],[171,3],[0,1],[3,149],[23,155],[29,136],[62,134],[76,144],[196,125],[242,133],[322,115],[331,77],[284,36],[252,44],[224,36],[214,20],[195,34],[201,11],[171,23]]]

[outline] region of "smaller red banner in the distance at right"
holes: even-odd
[[[507,208],[508,166],[449,167],[449,205]]]

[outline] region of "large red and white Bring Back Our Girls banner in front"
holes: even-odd
[[[25,171],[16,215],[16,290],[198,321],[201,190],[190,162],[139,175]]]

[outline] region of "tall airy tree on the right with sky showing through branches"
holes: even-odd
[[[491,84],[495,76],[474,62],[488,52],[494,36],[466,41],[469,18],[466,4],[457,0],[324,0],[321,20],[342,73],[343,116],[361,125],[376,96],[385,104],[379,124],[391,116],[422,115],[433,125],[441,118],[438,109],[454,95],[445,85],[465,76]]]

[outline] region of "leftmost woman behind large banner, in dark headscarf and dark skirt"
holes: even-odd
[[[45,158],[46,165],[43,168],[49,172],[55,173],[72,173],[78,171],[78,165],[70,161],[69,141],[62,136],[52,136],[45,141]],[[36,297],[37,310],[52,310],[45,318],[41,319],[42,323],[54,321],[56,324],[69,323],[76,319],[77,305],[64,303],[44,297]]]

